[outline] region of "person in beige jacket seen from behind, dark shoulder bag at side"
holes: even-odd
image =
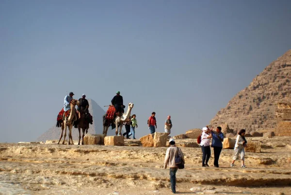
[[[176,173],[178,171],[178,165],[175,163],[175,159],[178,157],[178,153],[181,156],[181,160],[185,163],[184,155],[180,148],[176,147],[175,140],[170,139],[170,147],[167,149],[165,160],[164,160],[164,169],[167,168],[167,165],[170,167],[170,180],[171,188],[173,194],[176,194]]]

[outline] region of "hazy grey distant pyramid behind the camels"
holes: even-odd
[[[88,99],[89,102],[89,112],[93,116],[93,124],[90,124],[88,133],[92,134],[101,134],[103,131],[103,122],[102,116],[105,114],[105,111],[92,99]],[[46,142],[47,140],[58,140],[60,139],[61,128],[56,127],[54,124],[48,131],[43,133],[39,138],[37,138],[37,142]],[[82,132],[81,132],[82,134]],[[68,135],[68,130],[67,130]],[[79,131],[77,128],[72,129],[72,137],[73,140],[79,139]],[[66,136],[66,140],[68,140],[68,136]]]

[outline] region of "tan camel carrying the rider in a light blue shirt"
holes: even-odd
[[[80,102],[78,100],[72,99],[72,101],[70,102],[71,112],[70,112],[69,117],[65,117],[65,120],[62,122],[62,133],[61,133],[61,137],[58,144],[61,142],[64,129],[65,129],[65,135],[64,135],[64,141],[62,144],[65,144],[65,136],[66,136],[67,127],[69,128],[69,143],[68,144],[69,145],[71,144],[70,141],[72,141],[72,145],[74,144],[73,138],[72,138],[72,128],[73,128],[74,118],[76,114],[76,108],[75,108],[76,105],[80,106]]]

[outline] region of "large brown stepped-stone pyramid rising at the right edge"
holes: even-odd
[[[275,128],[278,103],[291,101],[291,50],[273,61],[248,87],[217,112],[213,126],[228,123],[230,129],[264,131]]]

